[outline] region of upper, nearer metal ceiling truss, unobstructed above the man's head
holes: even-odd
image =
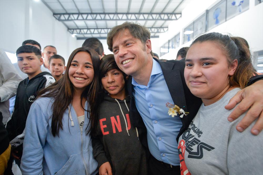
[[[72,20],[177,20],[181,13],[53,13],[59,21]]]

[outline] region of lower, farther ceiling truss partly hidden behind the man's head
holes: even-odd
[[[111,28],[70,28],[68,31],[71,34],[107,34]],[[150,33],[163,33],[168,30],[168,27],[150,27]]]

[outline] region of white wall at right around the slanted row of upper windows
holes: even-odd
[[[181,32],[180,47],[176,48],[174,52],[169,52],[161,56],[161,59],[175,59],[181,47],[189,46],[192,41],[182,44],[184,28],[200,17],[206,9],[213,7],[218,2],[220,2],[220,0],[192,1],[192,3],[182,11],[182,17],[169,25],[168,32],[160,35],[159,48]],[[263,50],[263,3],[257,6],[255,6],[255,0],[250,0],[249,3],[250,6],[247,11],[229,19],[208,32],[229,33],[233,36],[243,37],[248,41],[252,52]]]

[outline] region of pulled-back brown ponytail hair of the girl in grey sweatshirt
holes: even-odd
[[[212,32],[196,38],[191,45],[198,42],[211,41],[218,44],[225,53],[229,66],[237,59],[238,65],[234,75],[229,77],[229,85],[245,88],[249,79],[253,76],[253,66],[248,44],[244,40],[244,38],[230,37]]]

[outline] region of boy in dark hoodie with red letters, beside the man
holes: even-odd
[[[100,60],[100,79],[107,93],[92,130],[99,174],[147,174],[146,151],[130,122],[130,97],[125,88],[128,76],[118,68],[113,54]]]

